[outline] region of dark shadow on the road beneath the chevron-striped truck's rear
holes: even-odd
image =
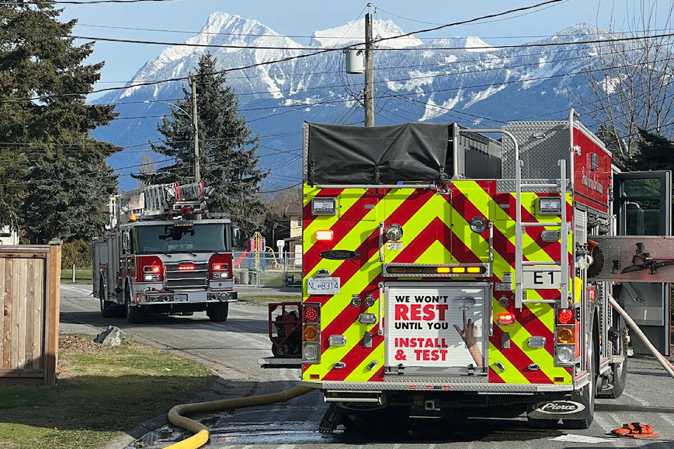
[[[341,427],[338,428],[341,433]],[[531,429],[526,420],[468,418],[450,422],[410,418],[407,429],[345,429],[337,436],[343,443],[468,443],[473,441],[533,441],[561,436],[557,429]]]

